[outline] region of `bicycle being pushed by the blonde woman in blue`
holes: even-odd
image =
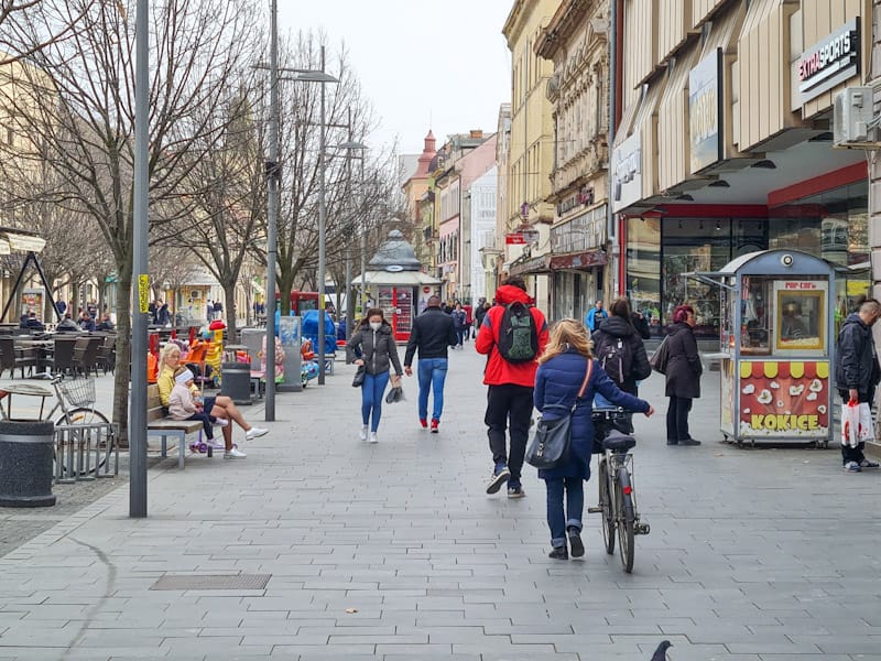
[[[620,433],[622,422],[628,416],[623,409],[595,409],[594,433],[602,445],[599,455],[597,483],[599,505],[588,509],[590,513],[602,514],[602,541],[606,553],[614,553],[614,538],[618,535],[618,552],[624,572],[633,571],[634,538],[649,534],[649,523],[640,520],[637,508],[637,491],[633,481],[633,455],[629,452],[637,445],[630,434]],[[612,433],[616,431],[618,433]]]

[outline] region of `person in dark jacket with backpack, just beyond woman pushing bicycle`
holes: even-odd
[[[639,394],[637,382],[652,375],[652,366],[649,365],[645,345],[631,324],[633,314],[630,301],[623,296],[616,299],[609,306],[609,318],[602,322],[591,337],[594,356],[618,388],[635,397]],[[633,433],[631,414],[628,414],[621,431]]]

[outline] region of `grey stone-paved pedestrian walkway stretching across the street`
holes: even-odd
[[[416,427],[411,379],[380,443],[359,443],[339,364],[279,395],[247,460],[151,472],[148,519],[123,487],[0,559],[0,659],[648,661],[668,639],[676,661],[881,660],[881,475],[716,442],[709,373],[694,416],[709,443],[667,447],[663,415],[638,420],[652,533],[633,574],[596,517],[587,557],[552,561],[534,472],[522,500],[483,492],[483,359],[450,362],[438,435]],[[664,410],[661,392],[644,386]],[[215,575],[268,582],[204,589]]]

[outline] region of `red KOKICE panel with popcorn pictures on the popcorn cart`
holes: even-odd
[[[827,436],[829,387],[825,360],[741,362],[741,437]]]

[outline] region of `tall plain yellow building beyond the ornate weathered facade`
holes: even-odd
[[[535,53],[535,45],[558,0],[515,0],[502,34],[512,56],[511,134],[508,141],[505,263],[508,273],[527,278],[530,293],[542,310],[550,310],[550,227],[554,207],[550,175],[554,163],[553,107],[545,95],[553,75],[552,62]]]

